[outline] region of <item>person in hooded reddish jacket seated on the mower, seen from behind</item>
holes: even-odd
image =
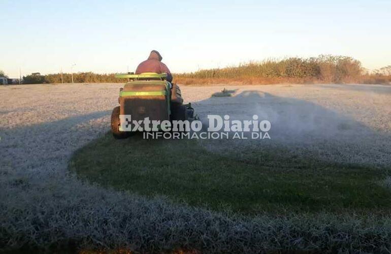
[[[167,73],[167,81],[172,82],[173,76],[169,68],[161,62],[161,55],[156,50],[152,50],[147,60],[140,63],[136,69],[135,74],[141,74],[145,72],[155,73]]]

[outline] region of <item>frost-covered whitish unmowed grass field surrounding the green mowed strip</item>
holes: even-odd
[[[390,247],[387,207],[380,214],[372,207],[363,217],[348,211],[248,217],[172,203],[167,197],[119,192],[78,178],[68,168],[71,156],[109,131],[121,86],[0,86],[0,248],[235,252]],[[251,159],[249,152],[282,149],[281,160],[308,157],[324,164],[369,167],[381,172],[378,184],[386,191],[391,86],[225,87],[235,90],[233,97],[211,98],[223,85],[181,90],[202,121],[208,114],[230,114],[232,119],[257,114],[271,121],[271,139],[200,141],[203,149],[235,153],[244,161]]]

